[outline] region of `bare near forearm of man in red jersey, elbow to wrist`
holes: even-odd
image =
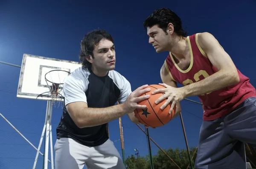
[[[199,82],[189,84],[182,88],[186,93],[186,97],[199,96],[230,85],[237,84],[238,82],[239,76],[237,72],[232,73],[231,71],[228,72],[228,70],[219,70],[218,72],[212,74],[211,76],[208,76],[207,78]]]

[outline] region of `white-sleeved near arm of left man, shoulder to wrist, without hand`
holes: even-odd
[[[86,79],[71,75],[65,80],[63,86],[67,112],[77,127],[98,126],[122,117],[127,113],[121,104],[105,108],[88,107],[85,95],[86,83],[88,83]]]

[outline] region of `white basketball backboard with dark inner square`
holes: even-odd
[[[45,74],[51,70],[65,70],[71,73],[79,67],[81,67],[80,62],[23,54],[17,97],[49,100],[50,90],[45,81]],[[67,76],[67,74],[63,75]],[[54,80],[54,77],[52,79]],[[50,82],[48,84],[52,85]],[[60,94],[63,95],[62,85],[59,89]]]

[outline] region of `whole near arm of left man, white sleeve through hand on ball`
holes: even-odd
[[[144,85],[131,93],[128,101],[122,104],[104,108],[91,108],[87,106],[86,89],[84,88],[86,86],[86,81],[75,79],[72,76],[65,80],[63,86],[67,112],[79,128],[105,124],[123,115],[132,113],[136,108],[144,108],[145,105],[139,105],[137,102],[148,99],[145,95],[140,96],[147,92],[144,89],[147,86]]]

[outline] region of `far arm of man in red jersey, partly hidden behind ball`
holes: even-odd
[[[171,76],[169,75],[169,72],[166,69],[165,63],[160,69],[160,76],[161,76],[162,82],[165,83],[166,85],[177,87],[177,83],[172,80]],[[179,115],[180,112],[181,112],[180,102],[177,102],[174,118],[177,117],[177,115]]]

